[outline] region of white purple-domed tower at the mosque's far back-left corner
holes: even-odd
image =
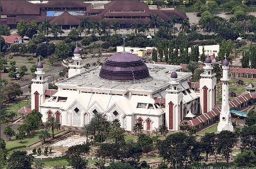
[[[81,64],[82,58],[80,57],[80,50],[77,47],[74,50],[74,57],[72,57],[72,59],[73,63],[68,65],[70,67],[68,77],[75,76],[85,71],[85,68],[83,68],[85,64]]]

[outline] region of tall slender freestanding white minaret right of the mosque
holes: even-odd
[[[231,122],[231,113],[229,112],[229,101],[228,101],[228,95],[229,95],[229,85],[228,81],[230,80],[228,77],[228,60],[224,60],[222,62],[222,69],[223,69],[223,77],[220,79],[222,83],[222,111],[219,115],[219,124],[217,127],[218,133],[223,130],[229,130],[233,132],[233,126]]]

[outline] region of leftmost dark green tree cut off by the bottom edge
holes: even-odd
[[[8,169],[32,169],[33,156],[28,155],[27,151],[14,151],[7,160]]]

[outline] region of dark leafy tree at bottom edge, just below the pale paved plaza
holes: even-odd
[[[71,146],[66,151],[66,159],[74,169],[87,168],[88,161],[83,158],[90,153],[90,147],[87,144]]]

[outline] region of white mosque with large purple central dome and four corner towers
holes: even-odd
[[[216,105],[216,78],[209,57],[200,75],[199,92],[191,89],[192,73],[181,72],[181,65],[145,64],[137,55],[121,52],[102,67],[85,70],[78,48],[72,59],[68,78],[55,84],[58,90],[48,89],[43,65],[37,63],[31,109],[41,112],[43,122],[55,116],[61,126],[83,127],[100,112],[109,121],[118,119],[128,131],[139,122],[151,132],[162,124],[173,131],[180,130],[184,121],[194,126],[191,119],[199,115],[206,117],[199,120],[206,124],[219,119],[219,114],[207,114]]]

